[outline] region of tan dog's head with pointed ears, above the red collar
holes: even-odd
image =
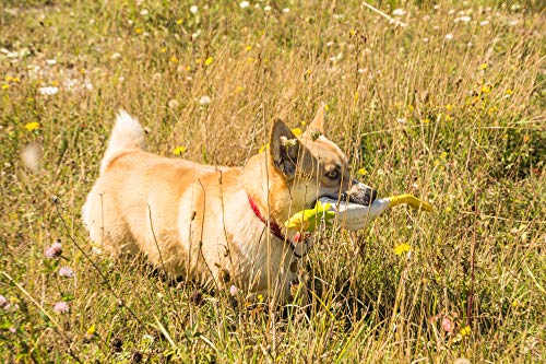
[[[324,136],[324,106],[321,106],[306,132],[296,137],[281,120],[270,134],[269,168],[276,176],[270,201],[280,212],[312,208],[317,199],[333,199],[368,206],[377,191],[354,179],[347,156]]]

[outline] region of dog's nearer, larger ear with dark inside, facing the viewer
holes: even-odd
[[[271,128],[270,153],[275,168],[288,180],[296,175],[300,148],[299,140],[286,124],[276,119]]]

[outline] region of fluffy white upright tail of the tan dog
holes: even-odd
[[[108,148],[100,163],[100,174],[104,174],[110,161],[119,152],[128,149],[144,148],[144,131],[136,119],[127,114],[126,110],[119,110],[116,117],[116,125],[111,130]]]

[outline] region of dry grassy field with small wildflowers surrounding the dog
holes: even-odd
[[[544,362],[541,1],[369,3],[385,15],[3,0],[0,362]],[[152,152],[242,165],[275,117],[302,128],[321,101],[365,183],[436,211],[318,242],[308,306],[166,282],[91,245],[80,211],[119,108]]]

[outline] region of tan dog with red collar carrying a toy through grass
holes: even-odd
[[[323,119],[321,107],[300,138],[276,120],[269,151],[232,168],[145,152],[142,127],[120,111],[83,207],[92,240],[112,256],[143,253],[173,277],[285,302],[307,240],[284,222],[322,196],[363,204],[376,197],[351,178]]]

